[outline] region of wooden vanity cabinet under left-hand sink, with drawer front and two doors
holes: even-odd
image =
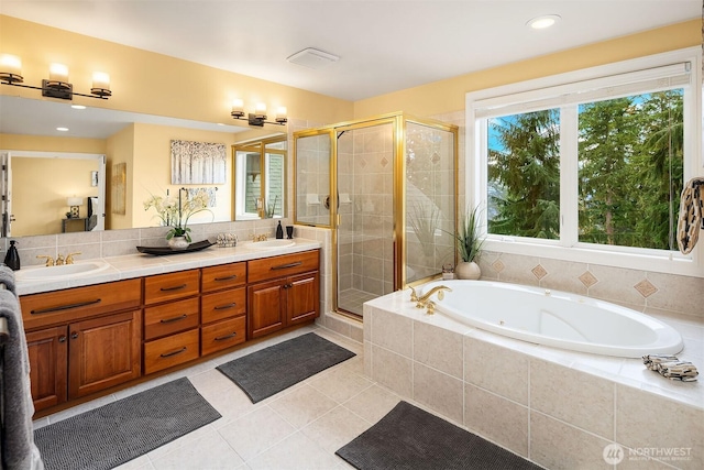
[[[20,296],[36,411],[141,375],[142,281]]]

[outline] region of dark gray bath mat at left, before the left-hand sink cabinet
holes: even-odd
[[[196,430],[220,414],[178,379],[34,431],[47,470],[111,469]]]

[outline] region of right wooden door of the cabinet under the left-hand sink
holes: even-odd
[[[68,397],[76,398],[141,374],[140,311],[68,326]]]

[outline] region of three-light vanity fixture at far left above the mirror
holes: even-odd
[[[74,91],[74,86],[68,83],[68,67],[63,64],[52,64],[48,69],[48,79],[42,80],[41,87],[23,85],[22,61],[16,55],[2,54],[0,56],[0,83],[13,87],[42,90],[42,96],[58,99],[73,99],[74,96],[86,98],[108,99],[110,91],[110,76],[103,72],[92,75],[92,88],[90,95]]]

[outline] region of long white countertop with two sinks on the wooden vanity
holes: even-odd
[[[92,273],[75,274],[64,278],[23,280],[24,273],[33,270],[46,270],[51,267],[32,266],[23,267],[15,274],[18,295],[35,294],[41,292],[59,291],[70,287],[95,285],[122,281],[134,277],[151,276],[154,274],[172,273],[176,271],[191,270],[204,266],[233,263],[238,261],[255,260],[276,256],[279,254],[297,253],[315,250],[321,247],[319,241],[294,239],[292,247],[268,248],[265,250],[251,250],[248,245],[253,242],[241,242],[234,248],[219,248],[212,245],[200,251],[176,253],[156,256],[153,254],[129,254],[124,256],[102,258],[99,260],[80,260],[75,264],[100,261],[107,267]]]

